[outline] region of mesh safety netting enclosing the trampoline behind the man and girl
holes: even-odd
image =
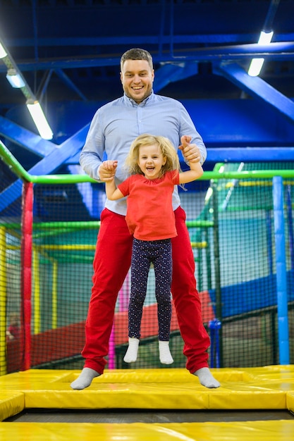
[[[4,165],[1,192],[16,188],[0,211],[1,334],[6,371],[20,369],[22,340],[12,332],[21,317],[22,201],[17,177]],[[293,163],[225,163],[217,178],[204,177],[180,190],[195,256],[202,319],[211,337],[212,367],[278,364],[276,249],[272,178],[232,173],[294,170]],[[238,172],[238,173],[237,173]],[[230,173],[232,177],[230,177]],[[207,176],[207,178],[206,178]],[[264,176],[264,177],[263,177]],[[290,176],[290,174],[289,174]],[[72,179],[72,178],[71,178]],[[293,178],[283,178],[290,360],[293,355]],[[92,261],[104,204],[104,185],[94,182],[35,183],[32,232],[31,367],[82,368]],[[114,277],[116,275],[114,274]],[[154,271],[150,268],[137,361],[125,364],[130,274],[118,293],[109,368],[185,367],[183,340],[173,310],[171,354],[159,362]],[[12,328],[10,328],[12,325]],[[5,333],[5,336],[4,336]],[[3,362],[2,362],[3,365]],[[2,369],[3,372],[3,369]]]

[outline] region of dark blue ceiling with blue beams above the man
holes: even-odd
[[[271,44],[257,44],[262,30]],[[0,59],[0,139],[30,173],[78,164],[94,112],[121,96],[130,47],[152,53],[154,91],[188,108],[208,169],[294,160],[294,0],[0,0],[0,39],[54,131],[37,135]],[[259,77],[247,75],[254,57]]]

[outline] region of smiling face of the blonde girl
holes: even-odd
[[[141,146],[139,149],[139,159],[137,165],[147,179],[157,179],[161,167],[166,163],[166,157],[161,153],[158,144]]]

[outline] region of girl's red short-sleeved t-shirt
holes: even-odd
[[[162,240],[176,237],[173,213],[173,187],[179,184],[178,170],[150,180],[144,175],[130,175],[118,185],[127,197],[125,221],[130,233],[139,240]]]

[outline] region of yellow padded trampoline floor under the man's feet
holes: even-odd
[[[4,375],[0,377],[0,439],[294,440],[293,365],[222,368],[212,369],[212,372],[221,383],[218,389],[203,387],[185,369],[171,368],[106,371],[82,391],[71,390],[70,387],[71,382],[77,378],[78,371],[30,370]],[[58,409],[61,409],[59,417],[64,415],[66,409],[73,409],[73,418],[71,419],[68,410],[68,422],[61,422],[64,420],[60,418],[57,420],[59,422],[52,419],[20,422],[17,416],[25,415],[25,409],[39,409],[44,415],[46,409],[51,409],[51,412],[56,412],[57,409],[57,414]],[[100,409],[104,416],[109,410],[112,417],[96,419],[94,422],[89,418],[82,421],[74,417],[77,409],[82,409],[83,413],[88,409],[88,417],[93,414],[94,409]],[[121,409],[124,418],[115,420],[114,409],[116,414],[117,409]],[[144,410],[145,415],[149,416],[153,412],[152,418],[134,419],[136,414]],[[177,419],[167,417],[176,410]],[[207,417],[204,417],[204,411],[207,415],[209,412],[213,413],[215,419],[205,419]],[[222,415],[219,419],[218,411]],[[233,418],[238,413],[239,421]],[[256,418],[250,416],[254,413]],[[278,414],[281,419],[277,419]],[[180,415],[183,419],[179,420]],[[199,420],[200,415],[202,420]]]

